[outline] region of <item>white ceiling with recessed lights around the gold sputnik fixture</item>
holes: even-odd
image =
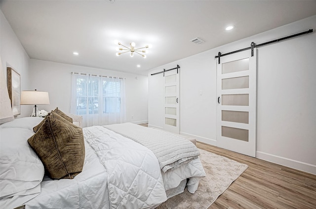
[[[147,75],[316,15],[316,0],[1,0],[0,9],[32,59]],[[226,31],[228,25],[235,28]],[[205,42],[190,42],[196,37]],[[153,47],[146,59],[117,57],[115,40]]]

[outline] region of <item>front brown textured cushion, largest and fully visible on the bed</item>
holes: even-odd
[[[73,179],[82,171],[85,154],[82,128],[50,115],[28,142],[52,179]]]

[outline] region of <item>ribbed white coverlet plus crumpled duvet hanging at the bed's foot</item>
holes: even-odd
[[[154,152],[162,171],[162,179],[168,198],[183,192],[185,185],[190,193],[197,191],[198,182],[205,177],[205,171],[197,156],[199,151],[192,142],[180,135],[133,123],[120,123],[103,127],[138,142]],[[186,179],[189,181],[183,182]],[[174,191],[175,187],[178,187],[177,192]]]

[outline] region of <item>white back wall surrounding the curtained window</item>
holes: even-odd
[[[39,109],[51,111],[58,107],[70,113],[72,77],[71,72],[90,73],[125,78],[126,122],[148,121],[148,77],[105,69],[83,67],[51,61],[30,59],[30,90],[49,93],[49,105],[39,105]],[[137,77],[137,79],[136,79]]]

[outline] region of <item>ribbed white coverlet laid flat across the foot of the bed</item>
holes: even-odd
[[[169,132],[134,123],[105,125],[104,127],[152,150],[164,173],[197,159],[199,155],[197,147],[192,142]]]

